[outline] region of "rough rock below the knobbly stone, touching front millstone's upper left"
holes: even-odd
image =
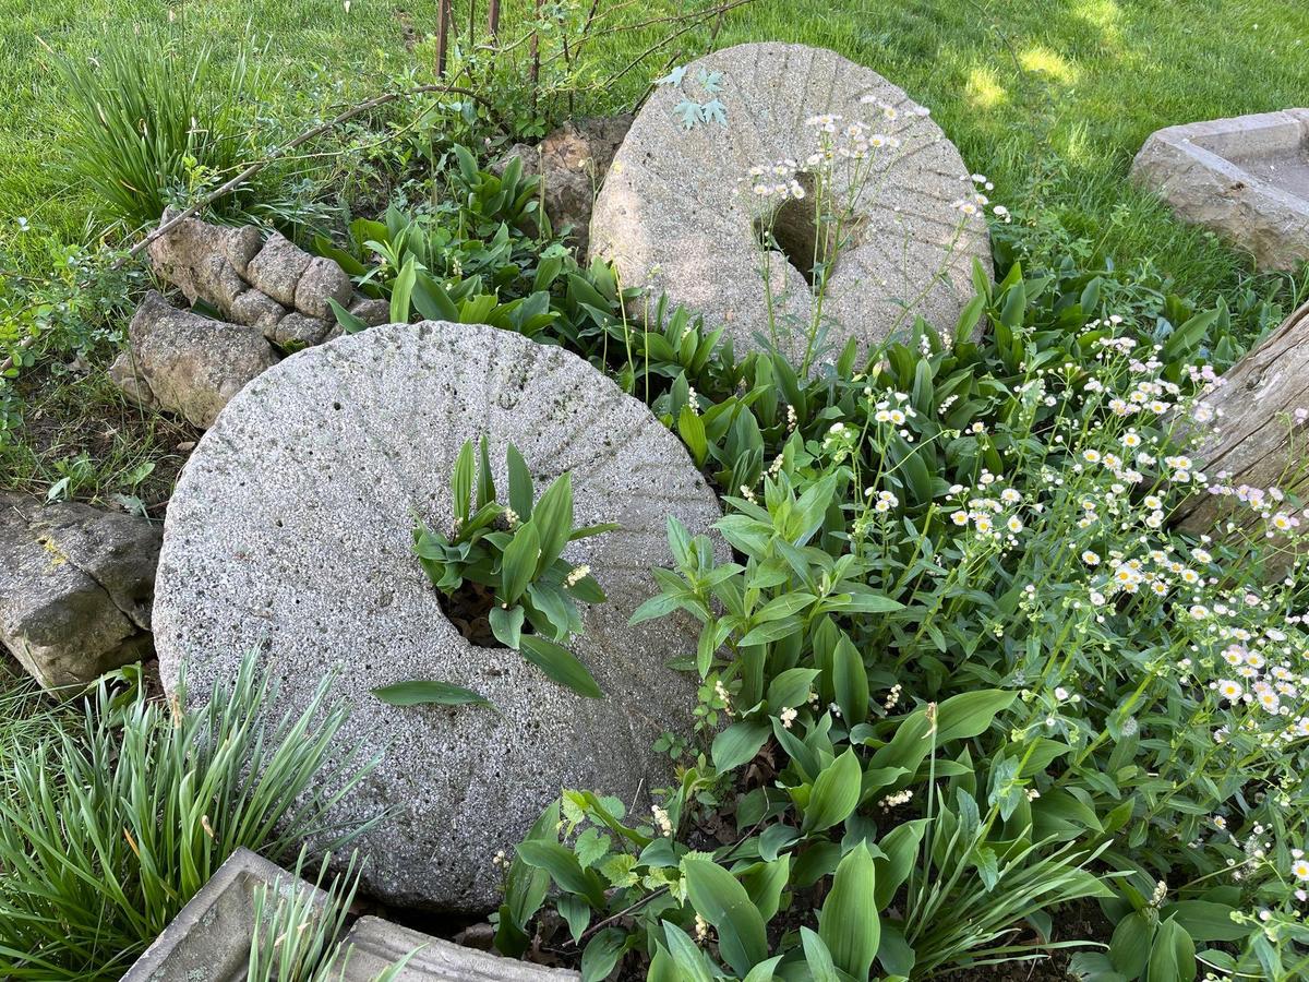
[[[151,291],[128,327],[128,351],[110,369],[132,398],[209,427],[228,399],[278,356],[253,327],[178,310]]]

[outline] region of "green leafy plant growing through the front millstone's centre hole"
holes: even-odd
[[[450,475],[454,530],[446,536],[419,521],[414,553],[450,611],[463,619],[486,617],[490,638],[473,628],[470,640],[520,652],[559,685],[593,699],[603,697],[590,672],[564,647],[583,632],[577,604],[602,604],[605,592],[589,567],[563,558],[573,541],[610,532],[617,525],[573,526],[572,475],[564,473],[534,498],[531,471],[518,449],[505,453],[509,503],[496,500],[495,477],[482,437],[479,452],[469,440]],[[393,704],[420,702],[484,702],[475,693],[432,682],[401,682],[376,690]]]

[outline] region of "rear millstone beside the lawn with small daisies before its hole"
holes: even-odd
[[[715,97],[696,81],[702,69],[721,73],[726,126],[687,131],[674,107],[683,98]],[[893,106],[898,119],[884,119],[876,105],[860,102],[864,97]],[[950,208],[971,190],[967,169],[940,127],[915,109],[876,72],[821,48],[740,45],[702,58],[679,86],[658,86],[637,114],[596,202],[590,254],[611,259],[624,285],[666,293],[703,313],[708,326],[725,326],[738,348],[755,347],[757,335],[770,336],[755,223],[767,221],[778,204],[758,199],[742,178],[753,165],[804,161],[817,151],[805,124],[812,115],[867,119],[874,132],[903,144],[878,152],[855,206],[859,228],[829,278],[827,356],[851,336],[865,347],[878,342],[910,325],[912,314],[950,330],[971,296],[973,262],[991,270],[990,242],[982,217]],[[809,284],[780,253],[770,257],[779,322],[808,323]],[[789,336],[779,336],[779,347],[798,361],[805,331],[781,331]]]

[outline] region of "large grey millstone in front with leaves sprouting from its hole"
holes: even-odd
[[[579,525],[622,526],[565,551],[609,594],[584,610],[585,636],[572,646],[606,699],[466,642],[412,556],[414,513],[450,529],[450,467],[483,433],[500,487],[513,441],[538,491],[572,471]],[[672,562],[669,515],[706,532],[719,508],[649,410],[560,348],[424,322],[302,351],[228,405],[178,482],[154,605],[165,685],[185,664],[203,699],[242,652],[262,648],[281,712],[335,673],[335,694],[355,704],[336,750],[384,754],[335,817],[395,809],[363,841],[368,888],[395,902],[488,909],[495,852],[512,850],[562,787],[639,807],[670,776],[651,745],[687,723],[694,686],[665,663],[694,651],[695,632],[627,625],[654,592],[649,567]],[[369,694],[408,678],[467,686],[499,712],[395,708]]]

